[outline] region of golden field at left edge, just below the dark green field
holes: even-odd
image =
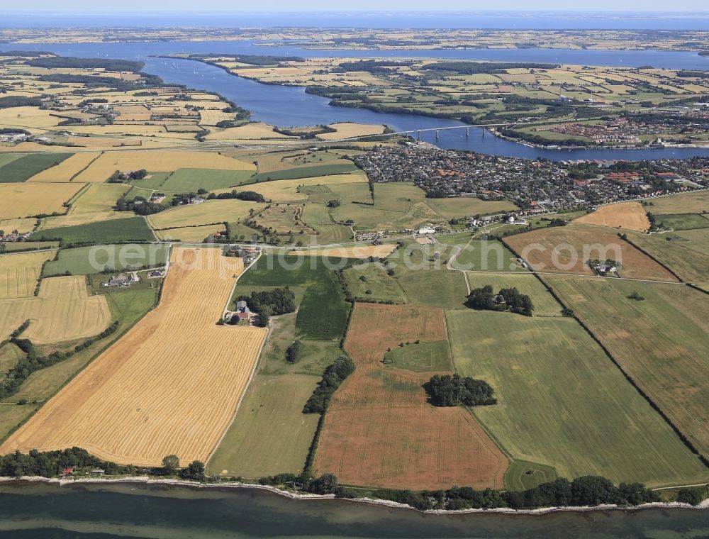
[[[80,184],[0,184],[0,218],[21,218],[40,213],[64,213],[62,207],[83,186]]]

